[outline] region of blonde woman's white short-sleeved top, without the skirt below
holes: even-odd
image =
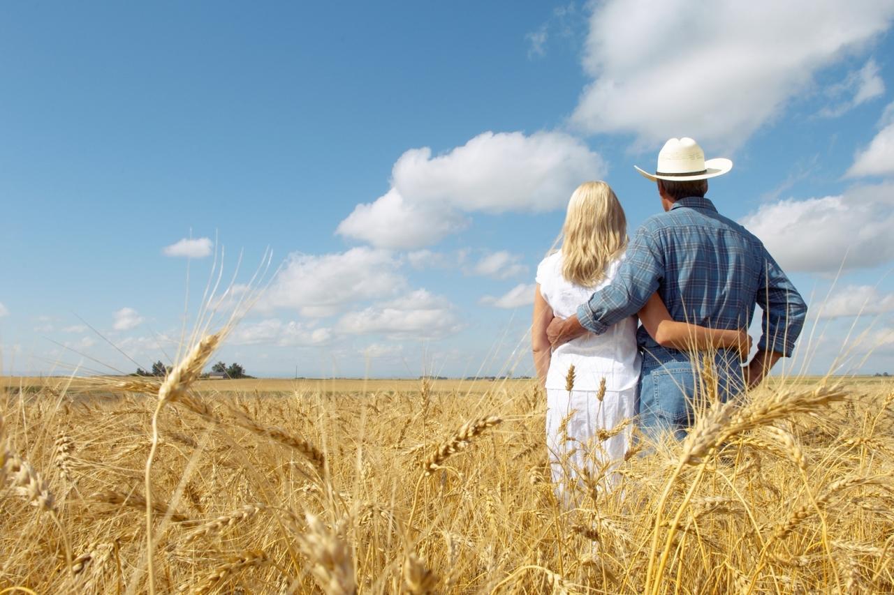
[[[593,287],[583,287],[567,281],[562,275],[562,255],[556,252],[537,266],[537,283],[552,314],[568,318],[577,314],[594,291],[603,288],[614,278],[620,261],[608,265],[603,280]],[[575,390],[598,390],[605,379],[607,390],[626,390],[636,386],[639,378],[637,350],[637,319],[633,316],[614,324],[602,335],[586,334],[569,341],[552,352],[547,389],[565,389],[570,365],[575,367]]]

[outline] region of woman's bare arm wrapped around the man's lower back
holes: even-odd
[[[738,349],[739,356],[743,359],[751,350],[751,337],[748,336],[746,329],[721,331],[673,320],[657,292],[652,294],[639,311],[639,320],[662,347],[684,351],[704,351],[711,348]]]

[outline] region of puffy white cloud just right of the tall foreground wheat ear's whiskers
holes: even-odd
[[[293,308],[308,317],[339,314],[351,303],[405,289],[399,265],[390,252],[368,247],[321,256],[291,254],[258,308]]]

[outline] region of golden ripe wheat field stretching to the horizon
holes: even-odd
[[[563,504],[534,381],[197,381],[213,347],[7,379],[0,592],[894,591],[890,381],[772,381]]]

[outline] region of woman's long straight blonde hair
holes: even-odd
[[[627,218],[611,187],[584,182],[571,195],[562,227],[562,276],[592,287],[627,247]]]

